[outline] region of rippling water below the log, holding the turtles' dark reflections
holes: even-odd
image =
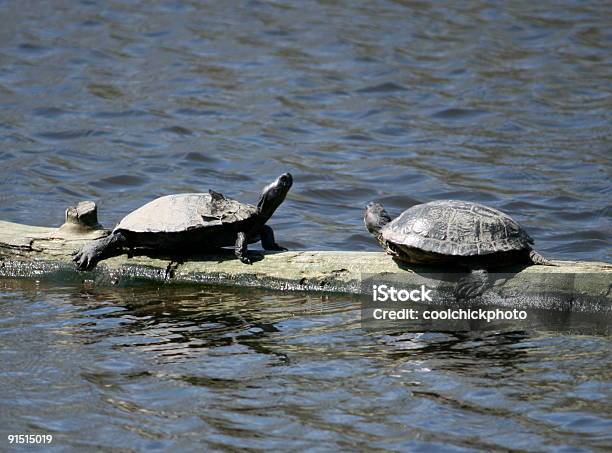
[[[0,433],[51,433],[57,447],[588,451],[612,442],[606,337],[366,333],[346,297],[16,283],[0,292],[0,327]]]

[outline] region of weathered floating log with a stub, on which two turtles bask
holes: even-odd
[[[371,296],[372,284],[381,282],[404,287],[425,284],[442,294],[452,291],[461,275],[409,268],[383,252],[357,251],[254,250],[252,265],[241,263],[230,250],[189,257],[119,255],[100,262],[93,271],[77,271],[72,252],[107,234],[98,224],[93,202],[68,208],[66,222],[59,228],[0,221],[0,277],[94,285],[219,284]],[[612,312],[611,264],[553,262],[555,266],[515,267],[491,274],[495,291],[487,291],[483,300],[515,307]],[[492,295],[488,299],[487,293]]]

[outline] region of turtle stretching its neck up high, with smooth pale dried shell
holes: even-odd
[[[264,187],[257,206],[213,190],[156,198],[125,216],[108,236],[75,251],[73,261],[79,270],[90,270],[124,249],[176,253],[234,246],[236,257],[251,264],[248,244],[261,240],[264,250],[287,250],[275,242],[266,222],[292,184],[290,173],[280,175]]]

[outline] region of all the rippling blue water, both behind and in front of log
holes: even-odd
[[[611,30],[603,1],[0,1],[0,219],[59,225],[93,199],[112,227],[168,193],[254,202],[290,171],[271,225],[293,249],[377,250],[367,201],[460,198],[512,215],[546,256],[610,261]],[[346,298],[6,285],[3,436],[612,443],[605,336],[384,336]]]

